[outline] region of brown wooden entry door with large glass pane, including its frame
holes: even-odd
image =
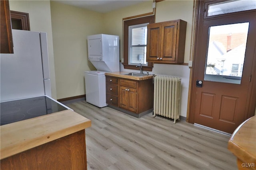
[[[208,16],[208,6],[218,1],[198,3],[192,123],[233,133],[248,116],[248,107],[255,109],[255,103],[249,104],[256,65],[256,10]],[[241,24],[248,25],[246,31]]]

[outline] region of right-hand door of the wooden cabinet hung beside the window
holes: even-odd
[[[162,24],[160,60],[175,61],[176,37],[177,22]]]

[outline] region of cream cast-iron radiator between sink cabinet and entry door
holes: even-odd
[[[176,120],[180,119],[181,79],[170,76],[154,78],[154,117],[161,115]]]

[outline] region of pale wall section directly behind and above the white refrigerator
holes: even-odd
[[[54,56],[52,44],[52,23],[50,1],[48,0],[10,0],[10,10],[18,12],[26,12],[29,14],[30,30],[41,31],[47,33],[48,41],[48,56],[50,66],[50,78],[52,88],[52,98],[56,98],[56,84],[55,84],[55,70],[54,70]]]

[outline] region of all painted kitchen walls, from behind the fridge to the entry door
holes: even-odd
[[[56,1],[10,1],[10,9],[30,14],[32,31],[48,33],[48,48],[53,96],[56,99],[85,94],[84,71],[95,70],[88,61],[87,35],[106,33],[120,36],[122,58],[122,18],[153,12],[153,0],[106,14],[61,4]],[[182,19],[187,21],[184,62],[188,63],[193,1],[166,0],[156,3],[156,22]],[[53,57],[54,56],[54,57]],[[55,68],[55,69],[54,69]],[[120,69],[124,70],[122,64]],[[186,116],[188,66],[155,64],[153,74],[179,76],[183,81],[182,113]],[[55,81],[56,80],[56,89]]]

